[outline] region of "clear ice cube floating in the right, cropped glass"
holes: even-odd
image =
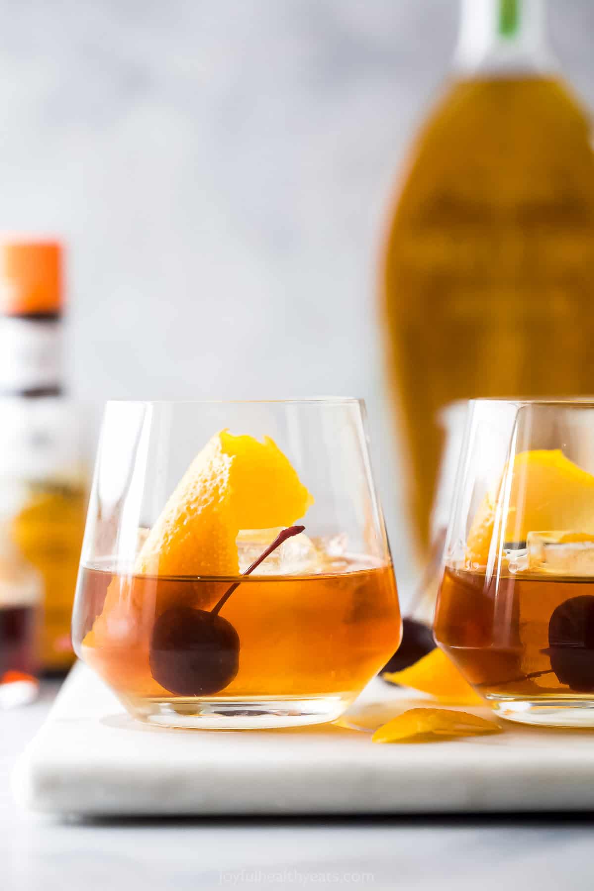
[[[557,576],[594,576],[594,535],[572,530],[529,532],[528,567]]]

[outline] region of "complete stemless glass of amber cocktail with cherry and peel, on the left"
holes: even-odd
[[[332,721],[392,655],[364,416],[357,399],[107,404],[72,636],[131,715]]]

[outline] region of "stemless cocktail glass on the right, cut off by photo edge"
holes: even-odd
[[[594,401],[470,405],[435,639],[504,718],[594,726]]]

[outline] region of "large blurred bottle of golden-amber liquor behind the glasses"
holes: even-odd
[[[542,25],[540,0],[464,0],[387,231],[388,369],[426,555],[444,405],[594,390],[590,121]]]

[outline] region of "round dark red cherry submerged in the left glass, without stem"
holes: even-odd
[[[175,696],[211,696],[224,690],[240,667],[240,635],[216,613],[171,607],[155,622],[151,674]]]

